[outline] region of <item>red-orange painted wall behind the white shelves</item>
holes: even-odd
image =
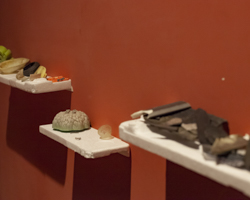
[[[40,62],[49,75],[70,77],[71,108],[86,112],[95,128],[110,124],[116,136],[134,111],[178,100],[226,118],[231,133],[244,134],[249,10],[247,0],[1,0],[0,43],[14,57]],[[62,185],[7,145],[11,91],[3,84],[0,91],[1,200],[68,199],[72,166]],[[165,160],[133,145],[131,153],[131,199],[165,199]]]

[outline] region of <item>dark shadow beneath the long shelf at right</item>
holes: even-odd
[[[223,186],[171,161],[167,161],[166,199],[250,200],[233,188]]]

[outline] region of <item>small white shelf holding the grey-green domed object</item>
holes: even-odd
[[[53,130],[52,124],[48,124],[41,125],[39,131],[85,158],[104,157],[112,153],[129,156],[129,144],[115,137],[111,140],[102,140],[94,128],[77,133],[65,133]]]

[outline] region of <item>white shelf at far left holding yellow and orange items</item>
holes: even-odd
[[[53,83],[46,78],[39,78],[34,81],[27,80],[22,82],[21,80],[16,79],[16,74],[0,74],[0,82],[34,94],[60,90],[73,91],[71,80]]]

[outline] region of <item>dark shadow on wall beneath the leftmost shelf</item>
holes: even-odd
[[[66,176],[67,148],[39,133],[39,125],[70,108],[71,92],[30,94],[11,88],[7,145],[60,184]]]

